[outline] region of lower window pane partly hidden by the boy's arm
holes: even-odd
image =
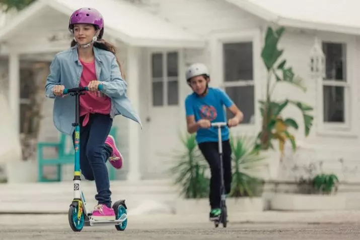
[[[227,87],[225,88],[226,93],[234,101],[234,103],[239,107],[239,109],[244,113],[244,124],[253,124],[254,123],[254,86],[244,86],[244,87]],[[227,109],[228,119],[233,117],[234,114]]]

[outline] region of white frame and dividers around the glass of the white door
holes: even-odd
[[[171,82],[171,80],[169,81],[168,80],[168,73],[167,73],[167,53],[169,52],[177,52],[178,54],[178,103],[175,104],[175,105],[169,105],[168,104],[168,82]],[[157,54],[157,53],[161,53],[163,54],[163,83],[164,83],[164,94],[163,94],[163,105],[161,106],[154,106],[153,105],[153,72],[152,72],[152,55],[153,54]],[[152,108],[161,108],[161,107],[179,107],[181,106],[181,101],[182,101],[182,95],[181,95],[181,71],[183,70],[183,68],[181,68],[181,64],[182,64],[182,51],[181,49],[172,49],[172,48],[169,48],[169,49],[151,49],[149,51],[149,54],[148,54],[148,59],[149,59],[149,75],[150,75],[150,81],[149,81],[149,89],[150,89],[150,101],[149,101],[149,104]],[[170,77],[172,78],[172,77]]]

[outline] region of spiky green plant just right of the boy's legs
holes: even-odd
[[[264,157],[253,151],[254,141],[247,137],[231,137],[233,181],[229,197],[258,196],[263,181],[252,176],[249,171],[259,167]]]

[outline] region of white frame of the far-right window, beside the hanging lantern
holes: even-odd
[[[323,34],[319,37],[322,47],[323,42],[343,43],[346,45],[346,81],[330,81],[318,78],[317,86],[317,135],[333,137],[355,137],[357,136],[357,84],[356,84],[356,62],[357,48],[356,38],[352,36],[343,36],[335,34]],[[324,86],[341,86],[344,87],[344,123],[324,122]],[[315,119],[316,121],[316,119]]]

